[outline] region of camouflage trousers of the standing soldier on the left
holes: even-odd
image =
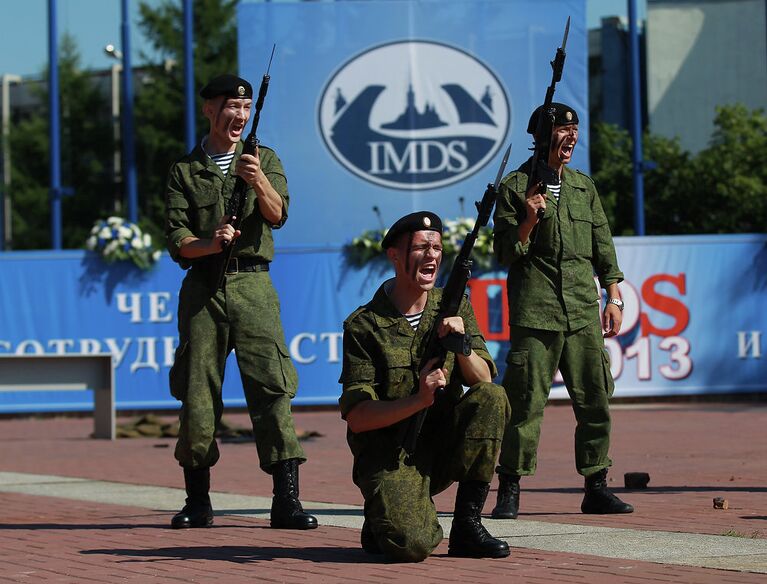
[[[262,469],[280,460],[305,460],[290,400],[298,376],[280,322],[280,303],[268,272],[227,276],[211,293],[210,278],[191,270],[179,294],[179,347],[170,371],[181,401],[176,460],[209,467],[219,458],[215,431],[223,412],[226,358],[235,350]]]

